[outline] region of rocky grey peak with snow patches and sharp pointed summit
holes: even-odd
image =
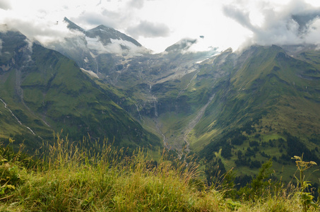
[[[73,36],[66,37],[64,42],[54,42],[50,47],[64,56],[76,61],[85,71],[105,77],[121,64],[122,59],[146,54],[150,50],[140,43],[113,28],[99,25],[91,30],[85,30],[68,18],[64,22]]]

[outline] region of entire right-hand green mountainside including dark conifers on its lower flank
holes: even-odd
[[[191,148],[208,160],[222,159],[226,169],[239,167],[240,175],[256,174],[273,158],[289,180],[292,175],[282,167],[294,169],[294,155],[320,161],[320,71],[276,46],[251,47],[241,57],[246,59],[227,69],[229,75],[213,89],[215,98],[194,128]],[[311,177],[316,181],[319,173]]]

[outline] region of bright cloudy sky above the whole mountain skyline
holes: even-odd
[[[49,44],[107,25],[162,52],[184,38],[194,51],[247,45],[320,45],[319,0],[0,0],[0,24]]]

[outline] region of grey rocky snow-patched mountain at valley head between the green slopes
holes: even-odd
[[[126,54],[124,53],[126,52],[125,48],[122,49],[124,50],[124,52],[121,51],[122,54],[112,53],[111,51],[97,52],[90,45],[90,42],[86,41],[90,41],[95,37],[103,48],[107,48],[110,43],[101,42],[100,37],[102,35],[95,33],[104,34],[104,40],[107,40],[107,37],[110,37],[110,32],[116,32],[116,30],[101,25],[92,30],[84,30],[67,18],[65,18],[65,21],[69,24],[70,30],[76,30],[80,34],[65,38],[66,43],[64,45],[53,44],[53,49],[76,61],[85,73],[91,73],[95,83],[103,89],[107,87],[111,90],[121,90],[122,98],[119,98],[119,95],[110,95],[112,100],[136,117],[143,126],[158,132],[160,137],[163,137],[163,135],[159,130],[160,126],[157,124],[158,110],[162,112],[162,110],[175,107],[173,105],[174,102],[167,104],[167,94],[169,94],[167,91],[172,90],[174,95],[183,93],[184,88],[194,76],[194,73],[197,72],[198,64],[218,53],[216,49],[211,49],[211,51],[207,52],[188,52],[189,47],[196,44],[196,40],[182,40],[176,45],[168,47],[167,51],[161,54],[150,54],[150,51],[143,51],[141,54]],[[109,33],[106,30],[99,30],[102,28],[109,29]],[[115,36],[116,34],[122,35],[119,32],[113,35]],[[117,39],[122,38],[118,37]],[[126,42],[131,40],[128,37],[123,37],[123,39]],[[79,40],[82,40],[85,45],[79,45],[81,43]],[[137,42],[131,42],[131,44],[134,43]],[[187,43],[188,45],[182,45],[177,50],[177,45],[182,43]],[[144,49],[143,47],[139,48]],[[73,55],[67,51],[70,51]],[[93,56],[93,60],[90,59],[91,56]],[[93,62],[91,63],[90,61]],[[95,64],[98,69],[94,69],[90,64]],[[178,85],[177,88],[167,88],[167,85],[170,85],[172,81],[180,81],[183,77],[185,77],[184,83]],[[174,96],[174,98],[176,97]],[[159,98],[164,98],[164,100],[158,100]],[[178,103],[184,104],[183,101],[179,100]]]

